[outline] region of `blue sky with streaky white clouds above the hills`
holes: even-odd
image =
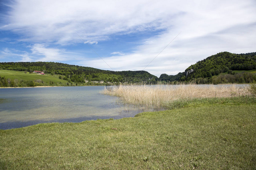
[[[256,52],[255,0],[0,0],[0,62],[159,77],[224,51]]]

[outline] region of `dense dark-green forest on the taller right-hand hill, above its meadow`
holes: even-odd
[[[253,70],[256,69],[256,53],[233,54],[221,52],[207,57],[196,64],[189,66],[185,72],[175,76],[162,74],[160,80],[168,81],[191,81],[197,78],[212,77],[232,70]]]

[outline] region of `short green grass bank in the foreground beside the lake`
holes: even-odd
[[[133,118],[0,130],[0,169],[256,168],[255,98],[182,102]]]

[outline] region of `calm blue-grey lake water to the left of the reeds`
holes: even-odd
[[[0,88],[0,129],[48,122],[134,117],[153,111],[100,94],[104,86]]]

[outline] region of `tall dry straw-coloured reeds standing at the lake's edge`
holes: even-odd
[[[117,96],[124,103],[146,107],[168,107],[171,102],[195,98],[222,98],[249,95],[246,86],[239,85],[120,85],[110,92],[105,88],[103,94]]]

